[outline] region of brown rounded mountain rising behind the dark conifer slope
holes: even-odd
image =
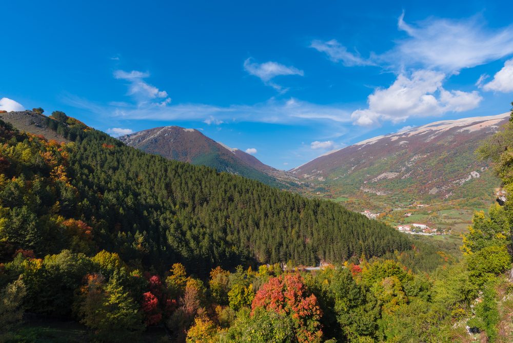
[[[240,149],[215,142],[196,129],[156,127],[121,136],[119,140],[169,160],[206,165],[220,172],[241,175],[273,186],[288,186],[295,179],[291,174],[274,169]]]

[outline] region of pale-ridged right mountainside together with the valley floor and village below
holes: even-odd
[[[362,141],[289,172],[312,183],[308,196],[369,211],[392,226],[418,221],[460,236],[473,212],[486,211],[497,198],[500,180],[475,150],[507,118],[434,122]]]

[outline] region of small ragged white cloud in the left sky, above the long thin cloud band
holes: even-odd
[[[143,79],[149,77],[148,72],[132,70],[115,70],[114,78],[117,80],[126,80],[129,82],[128,95],[132,96],[140,107],[160,106],[165,107],[171,103],[171,98],[165,90],[146,83]],[[155,102],[156,100],[156,102]]]

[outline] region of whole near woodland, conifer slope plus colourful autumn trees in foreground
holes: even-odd
[[[513,116],[513,113],[512,113]],[[512,117],[513,118],[513,117]],[[0,340],[508,342],[510,200],[463,257],[339,204],[142,153],[53,112],[47,140],[0,122]],[[513,192],[513,122],[480,149]],[[303,266],[330,263],[306,271]]]

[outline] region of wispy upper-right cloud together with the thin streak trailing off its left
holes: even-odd
[[[513,54],[513,25],[490,29],[480,16],[460,20],[430,17],[409,24],[404,16],[403,12],[397,27],[407,37],[395,41],[388,51],[371,53],[368,59],[349,52],[337,40],[314,40],[310,47],[348,67],[379,65],[396,71],[417,68],[445,73],[457,73]]]

